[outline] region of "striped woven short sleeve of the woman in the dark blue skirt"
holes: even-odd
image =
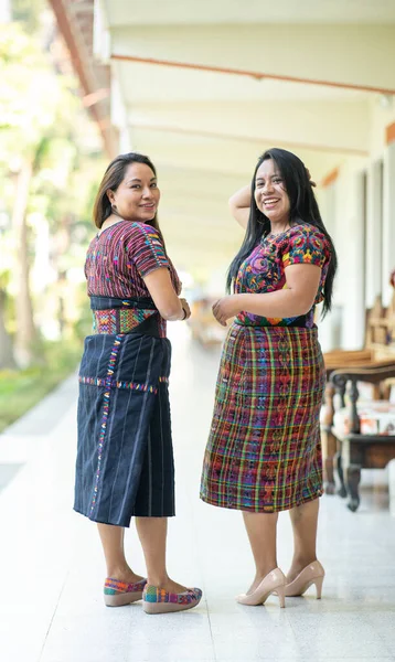
[[[141,278],[145,278],[154,269],[170,267],[163,241],[151,225],[135,223],[132,235],[126,248]]]

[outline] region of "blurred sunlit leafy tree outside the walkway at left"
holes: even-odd
[[[22,11],[22,0],[17,4]],[[1,329],[6,332],[1,302],[6,291],[11,291],[15,297],[14,353],[19,365],[25,366],[33,360],[39,338],[31,268],[40,227],[49,227],[52,268],[57,289],[64,292],[73,254],[76,250],[81,259],[81,246],[88,236],[87,200],[103,164],[97,130],[82,109],[75,79],[55,73],[40,41],[28,35],[22,24],[1,28],[0,81],[0,213],[3,210],[9,217],[3,234],[11,234],[14,248],[11,269],[6,267],[11,278],[2,290],[3,299],[0,265],[0,337]],[[75,232],[79,233],[77,242]],[[39,309],[41,317],[42,303]],[[63,311],[58,297],[61,331],[66,327]],[[0,367],[3,364],[0,355]]]

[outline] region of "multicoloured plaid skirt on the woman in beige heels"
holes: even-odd
[[[321,496],[324,384],[317,328],[235,322],[221,359],[201,499],[271,513]]]

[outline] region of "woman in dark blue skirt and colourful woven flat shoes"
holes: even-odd
[[[142,598],[147,613],[190,609],[202,595],[170,579],[166,566],[167,519],[174,515],[167,320],[191,313],[159,229],[159,199],[156,169],[138,153],[117,157],[97,193],[98,233],[85,263],[94,329],[79,369],[74,503],[98,525],[105,604]],[[125,557],[134,516],[147,579]]]

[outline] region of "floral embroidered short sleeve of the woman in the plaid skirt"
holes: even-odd
[[[282,253],[284,268],[290,265],[317,265],[322,267],[329,263],[330,250],[325,236],[316,228],[296,228],[289,236]]]

